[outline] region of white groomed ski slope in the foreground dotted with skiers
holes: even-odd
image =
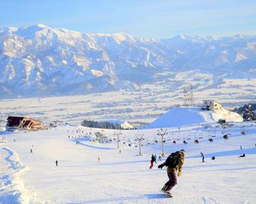
[[[167,153],[186,150],[173,198],[160,193],[166,170],[149,169],[151,154],[161,153],[157,129],[122,131],[121,153],[114,130],[62,126],[2,131],[0,203],[256,203],[256,123],[233,124],[225,129],[215,123],[167,129]],[[112,142],[90,142],[97,131]],[[133,144],[135,135],[141,134],[144,156],[138,156],[138,144]],[[199,139],[198,145],[194,139]],[[246,157],[238,158],[244,152]]]

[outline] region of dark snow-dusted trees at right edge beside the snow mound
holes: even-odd
[[[243,107],[236,107],[234,111],[239,113],[244,121],[256,120],[256,104],[245,104]]]

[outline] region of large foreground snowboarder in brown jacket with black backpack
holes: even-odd
[[[158,168],[167,166],[167,175],[169,180],[164,184],[162,191],[170,194],[170,190],[177,184],[177,176],[181,176],[181,169],[184,162],[185,150],[180,150],[171,153],[167,160],[163,164],[160,164]],[[178,173],[177,173],[178,172]]]

